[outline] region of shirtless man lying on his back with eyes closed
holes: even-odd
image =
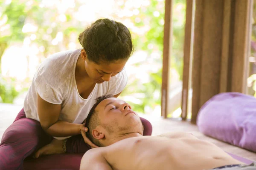
[[[86,120],[87,151],[80,170],[256,170],[190,133],[143,136],[139,115],[113,96],[97,98]]]

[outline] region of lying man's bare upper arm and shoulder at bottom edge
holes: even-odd
[[[81,160],[80,170],[113,170],[102,150],[102,148],[88,150]]]

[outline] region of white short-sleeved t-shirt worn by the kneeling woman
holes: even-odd
[[[49,103],[61,104],[59,120],[81,124],[97,97],[122,92],[128,80],[125,69],[110,81],[96,84],[88,98],[82,98],[75,80],[76,62],[80,54],[81,49],[58,52],[41,63],[24,101],[27,118],[39,121],[37,93]]]

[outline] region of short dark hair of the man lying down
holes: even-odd
[[[95,129],[99,124],[99,117],[98,113],[95,112],[95,108],[99,105],[100,102],[107,98],[113,98],[113,95],[103,95],[98,98],[96,98],[96,103],[93,105],[93,107],[90,109],[89,114],[87,115],[85,126],[88,128],[88,131],[86,133],[87,138],[90,139],[94,144],[96,144],[99,147],[103,147],[103,145],[97,140],[96,138],[93,138],[92,130]]]

